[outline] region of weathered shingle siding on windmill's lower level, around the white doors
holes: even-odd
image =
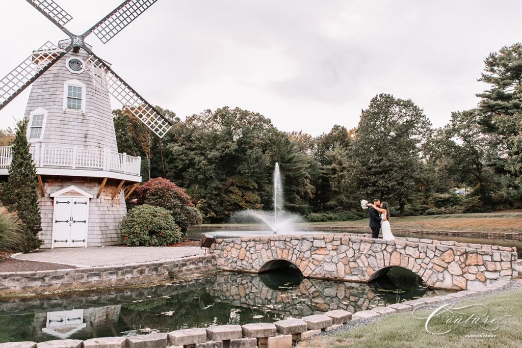
[[[54,199],[51,197],[51,194],[71,185],[93,196],[89,200],[87,246],[121,244],[118,225],[127,213],[123,189],[120,190],[120,193],[114,199],[111,199],[119,181],[109,179],[100,198],[96,198],[102,178],[44,176],[42,180],[44,181],[45,196],[39,198],[42,215],[42,232],[40,232],[39,236],[44,241],[43,248],[51,247],[53,234]]]

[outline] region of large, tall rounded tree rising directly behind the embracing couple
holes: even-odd
[[[417,193],[421,146],[431,123],[411,100],[378,94],[361,115],[352,146],[352,179],[361,198],[405,204]]]

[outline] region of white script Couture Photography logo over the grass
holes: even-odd
[[[412,315],[425,320],[424,329],[434,335],[461,332],[467,338],[495,338],[495,331],[502,322],[512,315],[494,316],[488,307],[481,304],[458,307],[456,304],[444,304],[435,309],[428,305],[415,308]],[[431,313],[426,309],[432,309]]]

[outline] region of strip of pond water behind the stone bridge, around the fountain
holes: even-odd
[[[221,229],[189,229],[187,233],[187,237],[191,239],[200,239],[202,234],[217,234],[220,236],[227,236],[227,234],[237,236],[237,233],[261,233],[262,231],[258,230],[248,230],[245,228],[243,231],[235,231],[235,230],[221,230]],[[271,232],[265,232],[267,235],[272,235]],[[343,230],[343,231],[335,231],[335,230],[303,230],[298,233],[302,234],[313,234],[313,233],[370,233],[370,230]],[[491,244],[491,245],[501,245],[507,247],[516,247],[518,258],[522,259],[522,241],[517,239],[494,239],[494,238],[476,238],[476,237],[457,237],[457,236],[448,236],[444,234],[422,234],[422,233],[414,233],[414,232],[394,232],[396,237],[413,237],[413,238],[429,238],[429,239],[437,239],[438,241],[455,241],[461,243],[474,243],[474,244]]]

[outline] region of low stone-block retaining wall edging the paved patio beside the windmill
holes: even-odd
[[[216,268],[212,255],[121,266],[0,273],[0,296],[80,291],[159,282]]]

